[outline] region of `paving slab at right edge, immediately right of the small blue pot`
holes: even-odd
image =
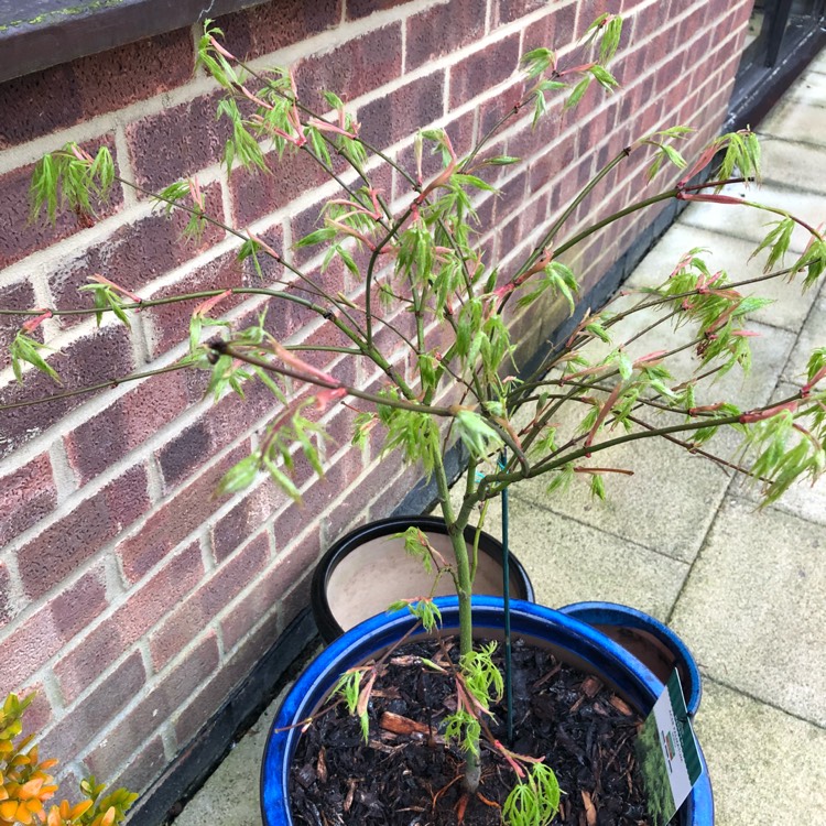
[[[727,499],[672,626],[713,678],[826,726],[826,526]]]

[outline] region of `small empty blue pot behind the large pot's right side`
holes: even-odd
[[[641,660],[662,682],[676,669],[685,707],[694,717],[703,695],[699,669],[686,644],[667,626],[643,611],[616,602],[573,602],[559,611],[610,637]]]

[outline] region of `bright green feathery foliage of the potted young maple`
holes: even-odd
[[[226,474],[219,493],[236,493],[268,475],[287,496],[298,500],[301,491],[293,477],[296,457],[303,457],[319,476],[323,474],[323,414],[330,404],[340,402],[354,413],[355,445],[367,446],[372,428],[381,425],[385,430],[383,453],[399,450],[404,461],[417,464],[427,477],[435,476],[445,515],[458,530],[488,498],[529,476],[547,474],[547,490],[554,494],[579,474],[587,478],[594,496],[605,498],[605,474],[617,469],[589,465],[591,453],[605,449],[606,442],[622,441],[627,433],[635,438],[662,434],[662,427],[646,419],[645,413],[663,409],[670,423],[680,422],[672,425],[683,431],[674,438],[684,439],[687,449],[698,450],[706,445],[724,423],[733,428],[743,439],[738,456],[743,461],[752,460],[752,474],[769,485],[768,501],[776,499],[794,480],[814,479],[823,472],[826,395],[819,385],[826,381],[826,348],[812,357],[806,384],[794,399],[776,409],[763,406],[742,412],[729,402],[697,406],[700,380],[720,376],[735,366],[748,370],[751,352],[746,325],[750,314],[768,305],[764,300],[743,295],[725,272],[713,272],[700,250],[686,254],[667,278],[663,273],[662,285],[642,291],[644,297],[631,309],[612,315],[599,312],[595,316],[588,309],[584,317],[580,315],[572,323],[570,337],[553,345],[547,360],[533,376],[517,379],[509,374],[518,371],[509,332],[512,319],[519,329],[530,328],[539,316],[536,302],[543,296],[543,304],[553,300],[566,306],[570,316],[585,309],[578,306],[576,274],[559,260],[582,260],[576,254],[566,257],[572,248],[580,244],[579,250],[589,253],[599,229],[657,198],[673,198],[676,193],[686,199],[714,200],[715,196],[704,194],[702,186],[688,186],[687,180],[705,169],[718,152],[721,181],[760,174],[756,137],[749,131],[736,132],[715,141],[674,189],[632,204],[613,216],[600,214],[597,219],[595,213],[589,218],[586,210],[591,204],[616,200],[611,186],[618,184],[611,182],[618,178],[609,175],[635,146],[644,145],[654,155],[649,180],[663,166],[688,166],[676,144],[689,130],[680,126],[664,129],[628,144],[616,159],[602,164],[570,203],[562,205],[558,219],[546,224],[540,219],[541,225],[535,228],[520,227],[524,237],[531,238],[532,247],[535,240],[530,253],[523,253],[519,246],[513,251],[497,249],[500,241],[493,248],[502,261],[486,258],[494,228],[480,225],[479,216],[488,214],[480,204],[488,207],[492,202],[489,196],[498,195],[488,178],[500,174],[498,167],[510,166],[518,159],[483,154],[496,152],[491,146],[501,145],[503,134],[511,143],[515,129],[510,131],[510,126],[526,117],[531,107],[535,126],[540,117],[551,111],[558,113],[563,107],[576,106],[594,85],[615,90],[617,80],[606,64],[619,47],[621,26],[619,18],[604,14],[587,29],[579,48],[570,55],[559,57],[551,48],[525,54],[521,65],[530,84],[523,98],[465,159],[456,155],[443,129],[426,129],[414,135],[415,169],[407,170],[394,160],[396,155],[403,157],[403,152],[393,150],[385,155],[359,138],[358,122],[337,95],[324,91],[325,111],[311,112],[298,99],[290,70],[259,70],[254,65],[243,65],[220,45],[220,30],[207,22],[198,42],[197,65],[225,93],[216,117],[226,121],[230,135],[224,151],[227,171],[242,166],[251,175],[276,173],[284,153],[301,151],[339,187],[338,197],[328,199],[319,210],[320,226],[293,243],[293,251],[302,252],[296,256],[290,250],[275,251],[247,229],[225,226],[222,215],[210,217],[210,207],[195,180],[175,182],[153,196],[160,211],[187,214],[187,236],[197,238],[210,220],[226,230],[227,238],[235,238],[238,243],[238,260],[251,260],[259,276],[256,287],[239,282],[226,293],[209,291],[206,301],[203,293],[169,298],[203,302],[192,313],[189,354],[181,363],[209,371],[208,394],[216,400],[230,392],[243,398],[248,382],[254,381],[272,395],[273,413],[256,433],[253,454]],[[557,106],[551,104],[552,99]],[[509,131],[502,132],[506,128]],[[421,177],[425,145],[442,162],[430,182]],[[385,164],[393,167],[391,174],[379,175],[379,167],[387,170]],[[502,177],[512,180],[510,170]],[[390,189],[382,191],[379,182],[389,178]],[[45,156],[34,171],[33,215],[45,213],[54,220],[58,210],[68,208],[87,220],[116,181],[119,180],[107,150],[91,156],[76,144],[67,144]],[[722,204],[741,203],[727,196],[716,199]],[[811,242],[787,274],[791,279],[795,273],[805,273],[804,286],[814,285],[826,272],[826,239],[783,210],[769,211],[780,219],[756,252],[764,253],[767,268],[773,270],[789,254],[795,227],[809,229]],[[499,220],[498,206],[494,215]],[[577,220],[576,230],[557,241],[572,216]],[[309,254],[313,261],[302,270],[301,260]],[[278,264],[278,275],[271,279],[276,286],[264,280],[261,257]],[[267,272],[269,278],[270,271]],[[354,285],[354,281],[358,284]],[[93,293],[94,307],[89,312],[98,323],[104,313],[110,313],[129,326],[130,305],[140,303],[137,296],[102,276],[84,289]],[[257,324],[236,333],[225,318],[213,317],[217,316],[213,313],[216,305],[230,294],[239,302],[248,301],[239,315],[247,313],[253,302],[268,301],[270,306],[282,302],[286,307],[284,328],[293,329],[295,316],[305,313],[315,315],[315,326],[305,327],[311,330],[306,339],[296,336],[282,345],[264,328],[264,317],[271,318],[272,314],[262,313]],[[530,316],[525,313],[529,308]],[[675,385],[667,365],[659,363],[655,354],[634,360],[630,345],[648,329],[630,339],[623,339],[619,330],[627,317],[641,309],[659,309],[663,320],[670,315],[675,328],[686,327],[692,333],[699,367],[691,379]],[[53,311],[42,315],[40,311],[25,312],[35,317],[23,325],[11,344],[14,374],[22,380],[23,365],[28,362],[57,379],[44,357],[47,348],[33,335]],[[59,312],[54,308],[55,314]],[[303,318],[301,323],[304,324]],[[656,326],[654,323],[649,329]],[[222,338],[202,343],[208,333],[215,333],[213,327],[222,328]],[[537,337],[539,333],[536,325]],[[339,339],[346,346],[339,346]],[[582,348],[596,344],[595,339],[600,343],[597,354],[586,356]],[[327,368],[328,362],[312,359],[302,349],[329,351],[334,367]],[[345,360],[348,369],[338,370]],[[317,367],[319,363],[323,367]],[[327,369],[335,370],[335,376],[355,376],[358,381],[345,384],[326,373]],[[371,390],[363,390],[365,387]],[[536,412],[530,423],[523,424],[517,414],[526,400],[535,402]],[[315,407],[313,413],[308,412],[311,405]],[[572,407],[577,415],[568,427],[566,411]],[[610,432],[611,437],[600,442],[604,431]],[[672,437],[671,433],[662,435]],[[493,465],[506,445],[511,460],[486,477],[471,478],[460,508],[454,511],[448,506],[444,457],[457,442],[464,445],[475,468]],[[453,568],[445,563],[415,529],[405,532],[404,539],[407,553],[419,558],[434,578],[445,574],[454,577],[463,599],[471,591],[472,583],[459,579],[459,569],[467,579],[464,565]],[[474,564],[469,567],[472,570]],[[426,629],[439,626],[441,617],[431,599],[405,600],[404,605]],[[470,639],[469,634],[465,639]],[[446,735],[460,742],[468,763],[472,762],[471,756],[480,754],[482,721],[502,692],[491,654],[492,649],[463,652],[458,671],[428,665],[434,671],[449,671],[457,684],[457,708],[446,720]],[[345,675],[337,686],[350,713],[359,717],[366,739],[374,676],[376,669],[359,670]],[[10,726],[13,728],[14,724]],[[112,819],[121,816],[126,797],[111,802],[105,798],[98,805],[99,791],[94,780],[85,793],[91,801],[89,811],[97,813],[95,817],[105,819],[110,817],[109,812],[115,812]],[[535,763],[508,798],[503,817],[519,826],[550,823],[558,797],[553,772]],[[100,809],[104,803],[106,813]],[[75,809],[59,816],[67,823],[87,823],[81,819],[86,814]],[[109,823],[101,819],[95,826]]]

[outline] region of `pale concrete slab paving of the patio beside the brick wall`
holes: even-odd
[[[826,220],[826,54],[758,132],[765,186],[746,197]],[[743,260],[767,219],[726,209],[692,205],[632,284],[661,281],[694,247],[713,248],[714,265],[732,278],[757,274],[759,264]],[[800,296],[796,285],[782,284],[769,294],[783,307],[758,315],[769,326],[759,325],[764,336],[756,339],[751,404],[800,387],[804,354],[826,346],[826,286]],[[728,377],[720,394],[739,381]],[[704,676],[696,730],[717,826],[826,823],[826,481],[796,486],[758,511],[753,487],[674,445],[623,446],[611,465],[635,474],[609,480],[607,503],[582,490],[550,498],[541,481],[512,489],[511,544],[539,601],[621,601],[683,637]],[[491,509],[491,533],[498,519]],[[228,756],[177,826],[260,826],[258,778],[272,715]]]

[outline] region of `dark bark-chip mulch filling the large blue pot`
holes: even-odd
[[[452,660],[458,645],[446,643]],[[501,667],[501,656],[494,662]],[[464,757],[439,736],[456,707],[450,677],[425,670],[416,657],[445,664],[434,642],[410,643],[388,660],[369,707],[366,746],[344,704],[307,728],[290,781],[296,824],[334,826],[499,826],[515,775],[482,742],[479,793],[463,792]],[[633,743],[642,719],[594,676],[550,652],[514,642],[512,751],[545,757],[563,790],[554,824],[648,826]],[[494,707],[492,735],[504,742],[504,708]]]

